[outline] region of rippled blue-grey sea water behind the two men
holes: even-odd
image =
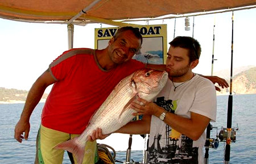
[[[27,141],[14,139],[14,127],[22,112],[23,103],[0,104],[0,163],[34,163],[35,141],[40,125],[44,103],[36,106],[30,119]],[[217,120],[212,123],[211,137],[215,138],[221,127],[226,127],[228,96],[217,96]],[[232,127],[237,128],[236,143],[231,143],[230,163],[256,163],[256,94],[233,95]],[[119,139],[120,140],[120,139]],[[123,150],[116,152],[118,161],[125,161],[128,141],[123,141]],[[110,145],[111,146],[111,145]],[[225,143],[209,150],[209,163],[223,163]],[[142,150],[134,150],[131,159],[142,162]],[[70,163],[67,153],[63,163]]]

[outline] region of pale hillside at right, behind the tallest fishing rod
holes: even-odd
[[[238,70],[239,73],[233,76],[233,94],[256,94],[256,67],[241,70]],[[221,75],[217,76],[224,77]],[[230,80],[227,81],[230,83]],[[217,94],[229,94],[229,88],[222,89],[221,92],[217,92]]]

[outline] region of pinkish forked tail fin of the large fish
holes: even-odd
[[[75,156],[77,163],[81,164],[84,159],[85,145],[77,144],[78,137],[75,137],[71,140],[65,141],[57,146],[54,149],[63,149],[71,152]]]

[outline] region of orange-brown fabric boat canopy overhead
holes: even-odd
[[[60,24],[175,18],[184,14],[254,8],[256,0],[0,0],[0,18]],[[118,25],[118,24],[117,24]]]

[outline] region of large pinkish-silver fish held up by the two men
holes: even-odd
[[[82,163],[85,143],[93,130],[101,128],[103,134],[117,131],[134,118],[132,113],[135,110],[130,109],[130,103],[136,101],[137,96],[152,101],[162,90],[167,79],[167,72],[148,68],[135,71],[125,77],[92,116],[84,132],[79,137],[57,145],[55,149],[68,150],[76,157],[77,163]]]

